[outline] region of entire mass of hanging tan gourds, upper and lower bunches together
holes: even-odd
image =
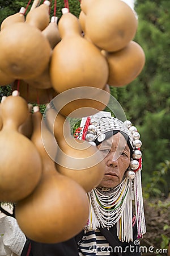
[[[134,80],[145,54],[133,41],[137,18],[121,0],[82,0],[79,18],[63,9],[58,24],[55,16],[50,19],[49,6],[45,1],[27,16],[22,8],[1,24],[0,86],[12,84],[13,93],[0,105],[0,200],[16,204],[16,219],[27,237],[53,243],[86,225],[86,193],[104,174],[100,152],[71,137],[66,117],[84,107],[82,117],[94,114],[91,107],[103,110],[109,85]],[[90,98],[82,98],[83,88],[89,88]],[[38,92],[39,103],[46,104],[71,89],[77,89],[78,98],[68,98],[57,118],[57,110],[49,107],[42,127],[42,114],[37,106],[32,113],[28,102],[36,103]],[[42,142],[42,128],[53,158]],[[80,162],[82,170],[76,168]],[[87,162],[91,167],[83,167]]]

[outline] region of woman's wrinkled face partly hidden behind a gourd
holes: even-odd
[[[117,133],[97,146],[105,156],[105,174],[99,186],[114,188],[121,183],[130,164],[130,148],[121,133]]]

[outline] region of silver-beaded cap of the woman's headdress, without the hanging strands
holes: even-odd
[[[122,122],[118,118],[111,116],[109,112],[99,112],[91,117],[82,118],[79,133],[75,133],[78,139],[84,139],[91,144],[99,144],[107,139],[109,131],[121,131],[128,136],[130,149],[132,149],[132,159],[129,170],[137,171],[142,169],[142,153],[140,147],[142,142],[139,140],[140,134],[135,126],[131,125],[129,120]]]

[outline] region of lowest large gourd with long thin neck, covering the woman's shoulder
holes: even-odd
[[[16,204],[16,220],[24,234],[34,241],[45,243],[66,241],[78,234],[87,223],[86,192],[74,180],[57,172],[53,160],[42,143],[42,115],[40,112],[35,112],[32,118],[32,141],[40,152],[43,171],[35,191]],[[57,148],[53,144],[50,131],[44,127],[42,133],[56,152]]]

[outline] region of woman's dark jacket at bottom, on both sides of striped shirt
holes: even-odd
[[[139,246],[135,246],[134,242],[121,242],[117,238],[116,226],[109,230],[100,228],[100,232],[109,242],[112,248],[117,248],[116,252],[111,256],[141,256]],[[137,240],[137,225],[133,226],[133,241]],[[38,243],[27,239],[21,256],[78,256],[78,241],[83,237],[83,231],[74,238],[61,243]],[[122,248],[122,249],[121,249]]]

